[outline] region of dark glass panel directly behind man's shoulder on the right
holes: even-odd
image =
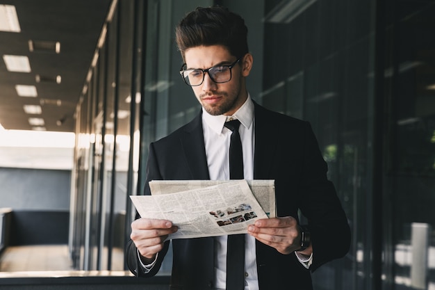
[[[261,101],[311,122],[352,228],[350,252],[313,273],[315,289],[372,289],[374,3],[296,2],[264,2]]]

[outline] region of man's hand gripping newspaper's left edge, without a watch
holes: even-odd
[[[163,249],[163,242],[168,234],[177,232],[178,227],[170,220],[139,218],[131,223],[130,239],[138,248],[144,264],[154,261],[156,253]]]

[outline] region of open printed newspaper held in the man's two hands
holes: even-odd
[[[154,187],[151,195],[130,196],[142,218],[171,220],[177,225],[178,231],[168,239],[246,234],[247,225],[258,218],[268,218],[244,179],[216,182],[211,186],[205,186],[204,182],[199,186],[197,181],[179,183],[189,185],[179,187],[174,186],[177,182],[150,182],[153,187],[157,184],[156,193]],[[270,207],[270,201],[268,203]]]

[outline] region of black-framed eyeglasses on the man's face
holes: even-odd
[[[186,67],[186,63],[184,63],[180,69],[180,74],[183,76],[184,82],[192,87],[200,86],[202,84],[206,72],[208,72],[208,76],[210,76],[210,79],[215,83],[227,83],[228,81],[231,81],[231,68],[233,68],[239,61],[240,58],[231,63],[231,65],[217,65],[206,70],[200,68],[184,70]]]

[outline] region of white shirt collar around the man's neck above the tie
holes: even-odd
[[[226,115],[210,115],[204,108],[202,108],[202,120],[210,127],[216,134],[221,134],[224,128],[224,123],[227,119],[238,119],[240,124],[249,129],[254,119],[254,103],[248,93],[245,103],[231,116]]]

